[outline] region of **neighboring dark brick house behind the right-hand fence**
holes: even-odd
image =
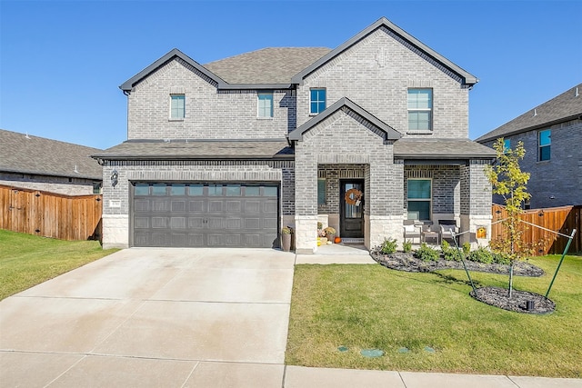
[[[505,147],[521,141],[526,156],[521,169],[530,173],[528,208],[582,204],[582,84],[484,134],[477,142]],[[494,202],[503,204],[494,197]]]

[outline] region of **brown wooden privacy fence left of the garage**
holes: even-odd
[[[100,240],[101,199],[101,194],[70,196],[0,184],[0,229],[61,240]]]

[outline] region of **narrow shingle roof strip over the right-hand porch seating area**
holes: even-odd
[[[494,158],[496,152],[469,139],[402,138],[394,144],[394,156],[406,159]]]

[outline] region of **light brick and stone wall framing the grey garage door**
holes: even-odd
[[[113,187],[109,177],[118,173]],[[107,161],[104,165],[103,244],[129,246],[132,182],[271,182],[280,184],[281,225],[295,214],[293,161]]]

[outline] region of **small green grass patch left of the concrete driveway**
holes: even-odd
[[[62,241],[0,229],[0,300],[113,254],[98,241]]]

